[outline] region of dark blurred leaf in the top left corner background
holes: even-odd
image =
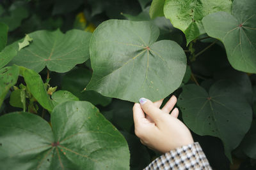
[[[9,31],[13,31],[20,26],[24,18],[28,18],[29,13],[23,6],[11,6],[10,15],[3,15],[0,17],[0,22],[8,25]]]

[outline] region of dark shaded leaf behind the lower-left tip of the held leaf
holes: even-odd
[[[92,72],[88,69],[76,68],[69,71],[62,78],[61,89],[68,90],[77,96],[80,101],[90,101],[90,103],[102,106],[107,106],[111,103],[110,97],[105,97],[98,92],[92,90],[85,90],[84,87],[89,83],[92,78]]]

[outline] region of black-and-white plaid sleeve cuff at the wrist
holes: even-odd
[[[212,169],[198,142],[181,146],[151,162],[149,169]]]

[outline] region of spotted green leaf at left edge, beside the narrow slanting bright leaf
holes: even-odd
[[[17,83],[19,67],[11,66],[0,69],[0,107],[8,90]]]

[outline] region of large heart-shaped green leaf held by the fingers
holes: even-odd
[[[86,89],[127,101],[157,101],[176,90],[186,71],[186,55],[177,43],[156,41],[150,22],[108,20],[90,42],[92,80]]]

